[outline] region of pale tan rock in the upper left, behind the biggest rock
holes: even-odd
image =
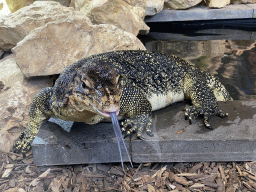
[[[52,21],[68,19],[70,16],[81,17],[90,22],[83,13],[54,1],[36,1],[15,13],[1,16],[0,48],[10,50],[31,30]]]

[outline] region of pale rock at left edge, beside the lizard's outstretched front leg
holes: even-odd
[[[15,58],[0,60],[0,149],[10,151],[14,141],[27,126],[30,103],[34,95],[52,86],[48,77],[25,80]]]

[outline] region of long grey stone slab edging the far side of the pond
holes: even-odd
[[[145,22],[248,19],[253,18],[254,10],[252,6],[245,4],[231,4],[221,9],[210,9],[206,6],[192,7],[187,10],[163,9],[160,13],[147,17]]]

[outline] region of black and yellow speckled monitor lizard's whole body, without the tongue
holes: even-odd
[[[191,123],[199,115],[211,129],[209,117],[227,116],[217,101],[232,100],[218,79],[176,57],[148,51],[115,51],[90,56],[67,67],[52,88],[33,100],[29,124],[15,143],[16,152],[30,149],[44,120],[95,124],[110,118],[109,112],[125,117],[122,130],[151,133],[151,112],[189,98],[185,112]]]

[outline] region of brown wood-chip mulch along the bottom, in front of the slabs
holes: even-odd
[[[0,152],[0,191],[256,191],[256,162],[33,164],[32,153]]]

